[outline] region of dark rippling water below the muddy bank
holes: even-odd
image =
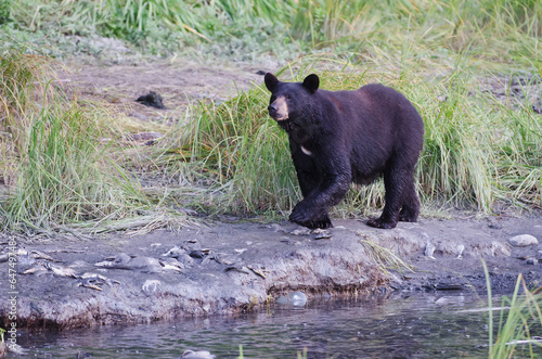
[[[499,305],[499,303],[495,303]],[[487,358],[483,298],[461,293],[313,302],[256,313],[136,326],[22,333],[38,358],[175,358],[185,349],[217,358]],[[27,357],[25,356],[25,357]],[[79,357],[78,357],[79,356]]]

